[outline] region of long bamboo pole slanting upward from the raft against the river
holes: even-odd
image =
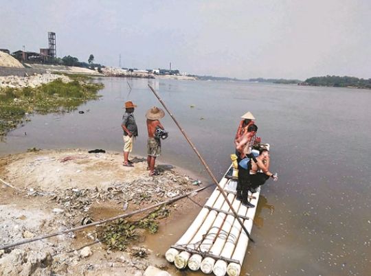
[[[170,117],[173,119],[173,121],[175,122],[175,124],[177,125],[177,127],[179,128],[179,130],[181,130],[181,133],[183,133],[183,136],[186,138],[186,140],[188,141],[188,143],[192,147],[192,150],[194,150],[194,152],[197,154],[197,157],[199,157],[201,163],[203,164],[203,166],[207,170],[208,174],[210,175],[210,177],[212,178],[212,180],[214,181],[214,183],[216,184],[216,186],[218,186],[218,188],[221,191],[221,194],[223,195],[225,201],[229,205],[229,208],[231,209],[232,213],[234,214],[236,220],[238,220],[238,222],[240,223],[241,227],[245,231],[245,233],[246,233],[247,237],[249,238],[249,240],[251,240],[251,242],[254,242],[254,240],[250,237],[249,231],[247,231],[245,225],[243,225],[242,220],[240,220],[240,218],[238,218],[238,215],[237,215],[236,211],[232,207],[232,204],[229,202],[229,200],[227,198],[227,195],[225,194],[225,192],[223,191],[223,189],[219,185],[218,181],[216,180],[214,174],[210,170],[210,168],[207,165],[206,161],[203,159],[203,157],[201,157],[201,154],[200,154],[199,150],[196,149],[196,146],[194,146],[194,144],[192,143],[192,141],[190,140],[190,138],[188,137],[188,135],[186,134],[186,132],[183,130],[183,128],[181,128],[181,126],[178,123],[177,119],[175,119],[175,117],[172,115],[172,113],[168,110],[168,108],[166,107],[164,101],[161,100],[161,98],[159,97],[159,95],[157,94],[157,92],[155,91],[155,89],[153,89],[153,87],[151,87],[150,84],[148,84],[148,87],[150,88],[150,90],[152,90],[152,92],[155,94],[155,96],[157,97],[157,99],[159,100],[159,102],[161,102],[162,106],[164,106],[164,108],[166,109],[166,111],[168,111]]]

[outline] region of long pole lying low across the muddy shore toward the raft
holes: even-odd
[[[201,187],[199,189],[194,189],[193,191],[188,192],[187,194],[182,194],[181,196],[175,196],[174,198],[171,198],[169,200],[163,201],[161,203],[157,203],[155,205],[150,205],[150,206],[145,207],[143,209],[131,211],[130,213],[122,214],[122,215],[119,215],[119,216],[114,216],[113,218],[107,218],[105,220],[99,220],[97,222],[90,223],[89,225],[82,225],[82,226],[79,226],[79,227],[75,227],[75,228],[63,230],[63,231],[60,231],[60,232],[50,233],[50,234],[47,234],[47,235],[38,236],[36,238],[32,238],[32,239],[28,239],[28,240],[22,240],[21,242],[14,242],[12,244],[6,244],[6,245],[3,245],[3,246],[0,246],[0,250],[9,249],[11,247],[19,246],[21,244],[28,244],[30,242],[36,242],[37,240],[44,240],[46,238],[54,237],[55,235],[63,235],[63,234],[67,234],[67,233],[70,233],[70,232],[79,231],[81,229],[85,229],[87,227],[92,227],[92,226],[95,226],[95,225],[102,225],[103,223],[110,222],[110,221],[113,221],[113,220],[118,220],[120,218],[127,218],[129,216],[134,216],[136,214],[142,213],[144,211],[148,211],[148,210],[153,209],[155,207],[159,207],[161,205],[166,205],[166,204],[172,203],[174,201],[177,201],[177,200],[179,200],[181,198],[185,198],[186,196],[189,196],[190,194],[192,194],[194,192],[201,192],[203,189],[206,189],[207,187],[210,187],[211,185],[212,184],[207,185],[205,187]]]

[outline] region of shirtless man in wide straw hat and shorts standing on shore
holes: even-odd
[[[161,125],[159,119],[165,116],[165,112],[154,106],[146,113],[147,118],[147,130],[148,130],[148,141],[147,141],[147,163],[150,171],[150,176],[159,175],[159,172],[155,170],[156,157],[161,154],[161,141],[155,137],[156,128],[164,130],[164,126]]]

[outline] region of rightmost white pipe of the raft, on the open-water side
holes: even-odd
[[[255,196],[256,198],[253,198],[251,200],[251,203],[254,205],[258,205],[258,199],[259,199],[259,192]],[[251,229],[253,226],[253,218],[255,216],[256,208],[249,208],[247,210],[247,217],[251,218],[250,220],[245,220],[243,222],[243,225],[246,227],[247,231],[251,233]],[[243,259],[245,257],[245,253],[247,250],[247,245],[249,244],[249,238],[247,237],[245,231],[242,231],[240,233],[240,237],[237,241],[236,249],[234,249],[234,253],[232,255],[232,259],[237,260],[240,264],[236,263],[230,263],[227,267],[227,274],[229,276],[238,276],[241,272],[241,264],[243,263]]]

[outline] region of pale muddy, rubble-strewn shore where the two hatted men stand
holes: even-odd
[[[0,179],[12,187],[0,184],[0,244],[89,224],[198,188],[192,185],[194,176],[171,165],[159,164],[161,174],[153,177],[145,159],[135,157],[133,162],[134,168],[127,168],[121,153],[87,150],[34,150],[1,157]],[[205,195],[200,194],[193,199],[202,202]],[[159,217],[151,226],[161,227],[179,216],[186,204],[179,200],[167,206],[170,218]],[[136,227],[135,238],[123,251],[98,238],[102,229],[88,227],[0,251],[0,275],[149,275],[144,272],[150,265],[168,269],[161,254],[143,245],[153,229]]]

